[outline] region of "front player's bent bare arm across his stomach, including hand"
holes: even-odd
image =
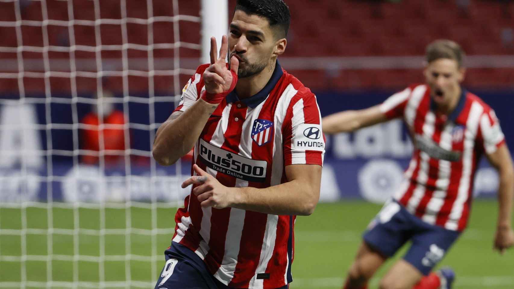
[[[201,206],[233,207],[273,215],[305,215],[313,213],[321,187],[321,166],[295,164],[285,168],[288,182],[267,188],[226,187],[196,164],[193,176],[182,187],[199,184],[193,189]]]

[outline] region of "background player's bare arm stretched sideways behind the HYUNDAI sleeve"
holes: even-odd
[[[380,105],[360,110],[346,110],[328,115],[322,119],[323,132],[335,134],[351,132],[359,128],[385,122],[388,118]]]

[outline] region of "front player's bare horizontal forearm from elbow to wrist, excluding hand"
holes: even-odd
[[[313,213],[319,200],[319,186],[292,180],[267,188],[229,188],[230,207],[272,215],[302,215]]]

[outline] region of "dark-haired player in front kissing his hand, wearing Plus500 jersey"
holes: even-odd
[[[325,142],[315,95],[277,60],[289,23],[283,0],[238,0],[219,57],[211,38],[211,63],[198,67],[159,127],[159,164],[194,154],[182,183],[192,192],[175,215],[155,288],[292,281],[295,216],[318,202]]]

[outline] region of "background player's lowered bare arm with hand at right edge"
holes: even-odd
[[[487,159],[500,175],[498,189],[498,224],[494,238],[494,248],[500,253],[514,245],[512,231],[512,205],[514,204],[514,167],[507,145],[503,143],[493,153],[487,154]]]

